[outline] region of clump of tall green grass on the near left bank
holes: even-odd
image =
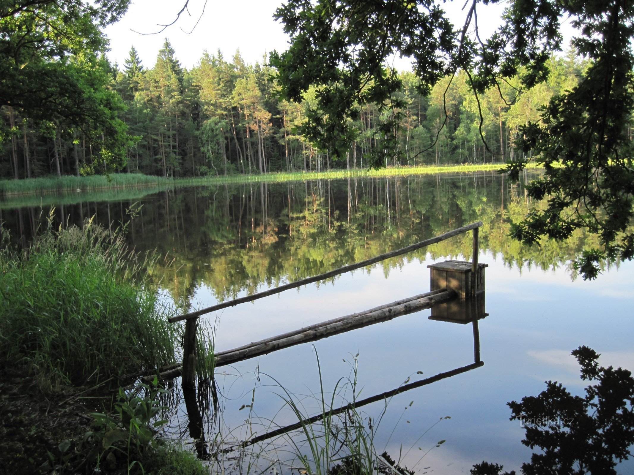
[[[28,249],[3,244],[0,365],[9,374],[43,390],[116,387],[174,362],[178,327],[122,235],[89,221],[55,232],[49,221]]]

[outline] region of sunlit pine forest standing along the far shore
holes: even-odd
[[[91,61],[73,57],[69,64],[90,79],[82,82],[82,94],[101,96],[101,109],[95,112],[101,120],[42,120],[3,106],[0,177],[112,171],[204,177],[363,169],[380,146],[379,127],[388,118],[377,105],[359,106],[353,124],[358,136],[345,156],[336,157],[301,134],[307,111],[316,107],[315,87],[301,103],[283,99],[266,54],[261,63],[249,65],[240,51],[230,60],[221,51],[204,53],[188,70],[165,39],[151,68],[134,47],[123,65],[110,64],[105,56]],[[527,91],[519,79],[507,79],[479,97],[463,71],[444,77],[427,96],[418,92],[414,73],[398,72],[404,87],[396,94],[406,107],[398,111],[394,130],[398,153],[385,165],[525,159],[514,146],[520,127],[538,121],[548,101],[574,87],[587,65],[571,51],[553,56],[548,67],[548,80]]]

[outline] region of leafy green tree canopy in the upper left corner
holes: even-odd
[[[108,168],[117,168],[129,138],[118,118],[122,103],[108,89],[108,63],[101,58],[107,39],[100,27],[115,22],[128,4],[129,0],[0,4],[0,106],[9,108],[9,135],[15,134],[18,115],[47,131],[54,142],[61,135],[71,141],[86,139]]]

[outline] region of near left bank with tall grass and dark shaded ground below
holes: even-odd
[[[59,231],[49,224],[26,250],[3,242],[2,469],[207,473],[193,454],[157,438],[165,423],[157,421],[158,388],[117,390],[175,358],[178,327],[143,277],[147,264],[122,235],[89,221]],[[89,412],[82,399],[98,401],[102,412]]]

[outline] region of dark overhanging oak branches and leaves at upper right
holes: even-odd
[[[550,200],[517,223],[514,236],[535,243],[542,237],[565,239],[579,227],[590,229],[600,236],[602,248],[586,250],[576,265],[584,278],[592,279],[600,260],[634,255],[629,227],[634,5],[625,0],[513,0],[502,25],[482,39],[478,8],[489,3],[498,1],[467,2],[465,23],[455,27],[436,0],[289,0],[276,17],[291,36],[290,47],[271,54],[271,64],[288,98],[297,101],[316,87],[316,106],[307,111],[303,130],[337,155],[358,134],[346,119],[358,117],[359,105],[377,104],[385,117],[370,165],[380,167],[398,153],[394,130],[403,106],[397,94],[403,81],[386,66],[392,54],[413,60],[422,93],[446,75],[464,72],[482,124],[480,98],[488,89],[498,89],[506,101],[501,87],[517,76],[513,102],[547,80],[550,54],[562,46],[560,23],[569,18],[578,31],[573,46],[590,66],[576,86],[550,99],[538,120],[526,120],[520,128],[517,144],[545,167],[529,193]],[[482,133],[481,139],[487,144]],[[517,177],[526,163],[516,158],[508,172]]]

